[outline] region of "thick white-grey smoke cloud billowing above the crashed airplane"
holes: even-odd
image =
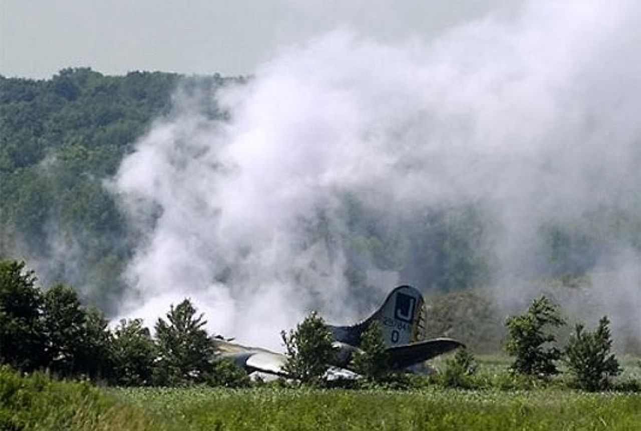
[[[403,249],[431,209],[467,204],[491,220],[478,247],[497,297],[519,297],[549,226],[641,209],[639,12],[531,1],[431,41],[336,31],[242,85],[178,92],[113,182],[142,232],[125,312],[192,297],[216,332],[277,347],[310,307],[358,316],[352,265],[377,301],[420,273],[355,259],[353,229],[374,219]],[[227,120],[203,110],[208,98]],[[594,302],[638,329],[637,245],[614,238],[590,271]]]

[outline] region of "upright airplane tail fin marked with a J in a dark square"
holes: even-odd
[[[337,341],[360,346],[362,333],[378,320],[387,348],[423,341],[427,313],[421,293],[412,286],[398,286],[387,295],[383,305],[369,318],[353,326],[330,326]]]

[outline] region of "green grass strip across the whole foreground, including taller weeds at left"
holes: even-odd
[[[641,375],[637,359],[622,362],[630,377]],[[508,380],[506,364],[481,358],[480,378]],[[641,430],[641,394],[559,384],[528,391],[99,388],[0,368],[0,429]]]

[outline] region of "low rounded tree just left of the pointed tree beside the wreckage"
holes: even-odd
[[[120,386],[151,384],[158,350],[142,319],[125,320],[113,330],[110,359],[113,382]]]

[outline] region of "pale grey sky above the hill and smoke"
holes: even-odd
[[[336,28],[383,42],[429,39],[515,0],[0,0],[0,75],[162,70],[251,74]]]

